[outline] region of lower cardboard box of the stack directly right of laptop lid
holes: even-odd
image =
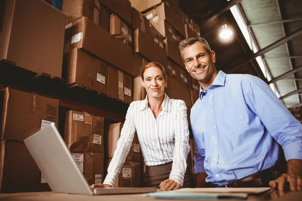
[[[74,161],[84,174],[89,185],[104,181],[104,154],[72,152]]]

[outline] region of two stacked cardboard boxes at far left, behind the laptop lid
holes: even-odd
[[[12,88],[0,91],[0,191],[50,190],[23,140],[58,123],[59,102]]]

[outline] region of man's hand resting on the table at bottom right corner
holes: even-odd
[[[302,190],[302,179],[295,174],[282,174],[279,178],[270,181],[269,185],[273,188],[278,187],[278,190],[283,190],[284,185],[287,185],[288,183],[290,190]]]

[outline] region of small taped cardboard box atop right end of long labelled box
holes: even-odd
[[[110,34],[132,47],[132,30],[115,14],[110,15]]]

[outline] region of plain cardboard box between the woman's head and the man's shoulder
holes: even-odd
[[[189,89],[178,81],[169,79],[165,92],[170,98],[184,100],[187,106],[192,107]]]

